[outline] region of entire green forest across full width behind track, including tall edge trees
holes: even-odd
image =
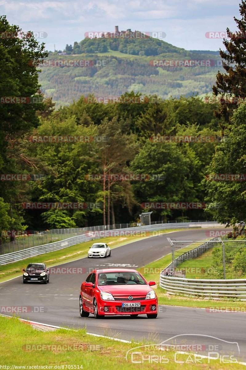
[[[3,30],[20,29],[3,16]],[[138,222],[139,214],[149,210],[143,204],[150,203],[202,204],[153,207],[152,221],[207,219],[231,225],[245,221],[245,181],[213,181],[210,176],[245,172],[244,100],[219,100],[221,95],[245,97],[246,84],[238,82],[245,81],[245,76],[234,57],[238,40],[225,43],[227,51],[220,52],[224,69],[218,71],[216,84],[210,85],[218,99],[197,94],[164,99],[155,88],[150,94],[141,88],[127,91],[126,71],[138,74],[141,87],[155,79],[157,70],[133,61],[129,69],[112,58],[115,73],[122,75],[121,102],[90,103],[88,97],[98,95],[91,87],[79,94],[65,78],[66,73],[75,76],[76,68],[67,68],[63,83],[74,101],[57,106],[44,95],[45,84],[41,86],[39,80],[39,74],[48,78],[48,69],[39,72],[38,63],[30,63],[49,57],[45,45],[30,35],[0,39],[1,97],[30,97],[26,104],[7,104],[7,99],[0,104],[1,241],[5,241],[4,230]],[[236,67],[231,67],[232,61]],[[169,73],[160,69],[163,76]],[[189,73],[188,68],[183,70]],[[94,72],[91,68],[90,73]],[[113,77],[104,68],[97,73],[105,91]],[[78,78],[83,82],[87,73]],[[177,84],[173,78],[170,91]],[[114,94],[118,91],[111,89],[109,96]],[[163,137],[169,139],[156,139]],[[39,203],[46,208],[35,206]],[[73,206],[55,206],[63,203]]]

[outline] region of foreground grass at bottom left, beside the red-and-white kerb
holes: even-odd
[[[126,353],[128,350],[146,343],[116,342],[112,339],[90,336],[86,334],[85,329],[77,331],[58,329],[51,332],[40,332],[33,329],[31,325],[20,322],[17,318],[8,319],[3,316],[0,317],[0,326],[1,365],[10,366],[10,368],[12,365],[47,365],[53,366],[54,369],[55,365],[63,365],[63,369],[66,369],[66,365],[77,365],[79,369],[83,367],[84,370],[177,369],[177,364],[174,362],[174,353],[172,353],[172,351],[163,351],[161,353],[162,356],[165,356],[169,361],[164,364],[158,364],[156,362],[150,364],[148,361],[143,361],[141,364],[133,364],[131,362],[131,357],[129,357],[128,361],[126,360]],[[159,342],[152,343],[157,344]],[[27,347],[30,345],[31,347]],[[46,350],[30,350],[36,349],[37,345],[39,345],[39,349],[46,348]],[[70,350],[65,350],[67,346],[70,346],[68,347]],[[156,350],[143,352],[145,357],[155,354],[159,356],[160,352]],[[180,361],[189,360],[189,363],[184,363],[182,365],[182,369],[196,369],[197,364],[190,363],[190,359],[194,359],[194,356],[188,356],[188,354],[179,354]],[[218,360],[210,360],[210,364],[208,364],[208,359],[202,359],[200,365],[202,369],[209,370],[242,369],[242,365],[240,364],[223,364]],[[72,369],[72,367],[70,367],[70,369]]]

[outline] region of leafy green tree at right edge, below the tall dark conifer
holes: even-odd
[[[226,141],[216,148],[208,167],[208,174],[245,174],[246,168],[246,106],[241,104],[234,112]],[[245,221],[246,179],[213,181],[206,179],[208,198],[220,207],[214,211],[222,223]]]

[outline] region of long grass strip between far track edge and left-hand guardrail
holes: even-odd
[[[156,233],[164,234],[167,232],[179,230],[180,229],[159,230],[155,231],[154,234],[153,232],[149,232],[148,234],[146,233],[146,238],[152,235],[155,236]],[[143,238],[144,236],[110,236],[107,238],[94,239],[89,242],[76,244],[65,249],[57,250],[55,252],[44,253],[42,255],[27,258],[18,262],[9,263],[7,265],[0,266],[0,282],[22,275],[22,269],[26,268],[28,263],[30,262],[45,263],[48,267],[51,267],[54,265],[59,265],[61,263],[72,262],[77,259],[83,258],[87,256],[88,249],[95,242],[107,243],[112,249],[131,242],[135,242],[137,240],[142,240]]]

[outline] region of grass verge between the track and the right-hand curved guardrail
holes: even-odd
[[[194,243],[188,247],[182,249],[183,252],[191,250],[197,247],[200,243]],[[180,249],[181,250],[181,249]],[[157,287],[155,289],[158,296],[159,305],[168,305],[168,306],[186,306],[186,307],[197,307],[197,308],[211,308],[219,310],[232,310],[232,311],[246,311],[246,302],[241,302],[236,298],[228,299],[202,299],[187,297],[183,295],[170,295],[166,293],[166,290],[162,289],[159,286],[160,272],[166,268],[167,265],[172,261],[171,253],[168,255],[149,263],[148,265],[139,268],[147,281],[153,280],[156,282]],[[191,266],[189,266],[191,267]]]

